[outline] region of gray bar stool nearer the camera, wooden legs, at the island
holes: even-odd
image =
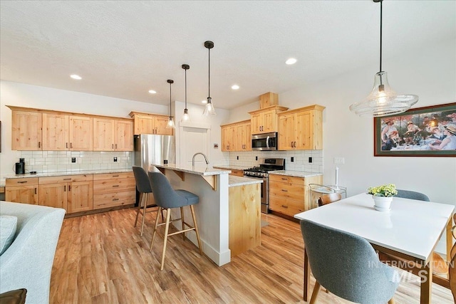
[[[201,240],[199,239],[199,231],[197,227],[197,221],[195,218],[195,210],[193,209],[194,204],[198,204],[199,197],[192,192],[186,190],[175,190],[172,189],[172,186],[168,179],[160,172],[149,172],[150,185],[152,186],[152,191],[154,192],[155,204],[158,206],[158,211],[166,209],[166,222],[158,224],[158,213],[157,219],[155,219],[154,233],[152,234],[152,241],[150,241],[149,250],[152,251],[152,245],[155,239],[155,233],[157,232],[157,226],[165,225],[165,237],[163,240],[163,252],[162,252],[162,262],[160,266],[160,271],[163,270],[165,265],[165,252],[166,252],[166,243],[168,236],[173,236],[175,234],[183,234],[182,238],[185,240],[185,232],[195,230],[197,234],[199,253],[202,255],[201,249]],[[184,220],[184,208],[185,206],[190,206],[190,211],[192,211],[192,218],[194,226],[191,226]],[[169,233],[170,231],[170,218],[172,208],[180,208],[180,219],[173,219],[174,221],[182,221],[182,230]],[[189,227],[185,229],[185,226]]]

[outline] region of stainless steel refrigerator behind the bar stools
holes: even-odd
[[[175,164],[175,137],[172,135],[135,135],[135,166],[155,171],[153,164]]]

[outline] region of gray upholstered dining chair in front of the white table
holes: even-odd
[[[301,232],[316,279],[311,304],[316,303],[320,286],[356,303],[394,303],[400,276],[378,260],[368,241],[304,219]]]

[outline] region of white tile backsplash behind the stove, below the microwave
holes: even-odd
[[[256,157],[281,157],[285,159],[287,170],[323,173],[323,150],[229,152],[229,164],[242,167],[257,166],[259,160],[256,160]],[[309,157],[312,158],[312,162],[309,162]]]

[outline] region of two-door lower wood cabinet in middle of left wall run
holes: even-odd
[[[68,214],[93,209],[93,174],[39,178],[39,204]]]

